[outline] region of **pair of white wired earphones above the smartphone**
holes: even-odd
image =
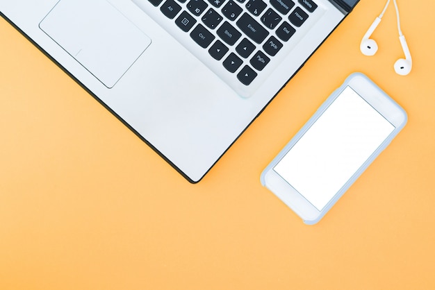
[[[411,53],[409,52],[407,40],[405,39],[402,33],[402,29],[400,28],[400,15],[399,15],[399,8],[397,7],[397,2],[396,0],[393,0],[393,2],[394,2],[396,16],[397,16],[397,30],[399,31],[399,40],[400,40],[400,44],[402,45],[402,50],[405,56],[405,58],[400,58],[395,62],[394,70],[397,74],[400,74],[401,76],[406,76],[411,72],[412,58],[411,58]],[[388,8],[389,4],[390,4],[390,0],[387,0],[381,14],[378,17],[376,17],[375,21],[372,23],[372,25],[370,25],[370,28],[368,28],[368,31],[366,32],[366,34],[363,36],[363,39],[361,40],[359,49],[361,49],[361,53],[363,53],[365,56],[373,56],[377,52],[378,49],[377,43],[375,40],[372,40],[370,36],[381,22],[382,17],[384,17],[384,13],[386,11],[386,8]]]

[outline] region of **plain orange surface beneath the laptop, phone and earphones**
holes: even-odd
[[[0,289],[435,289],[434,1],[362,0],[197,185],[0,19]],[[353,71],[409,122],[317,225],[259,176]]]

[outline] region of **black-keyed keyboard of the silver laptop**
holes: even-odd
[[[261,78],[318,8],[313,0],[146,1],[174,22],[172,35],[189,35],[213,62],[220,62],[224,70],[214,71],[237,79],[236,87]]]

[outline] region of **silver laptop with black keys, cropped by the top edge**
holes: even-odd
[[[0,12],[198,182],[358,1],[0,0]]]

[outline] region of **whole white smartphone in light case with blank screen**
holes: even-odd
[[[320,221],[407,123],[407,113],[367,76],[351,74],[261,174],[299,215]]]

